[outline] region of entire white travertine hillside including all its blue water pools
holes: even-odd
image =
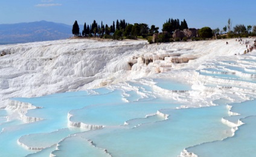
[[[234,38],[1,45],[0,156],[254,156],[245,49]]]

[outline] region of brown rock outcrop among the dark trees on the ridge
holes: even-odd
[[[180,29],[176,29],[173,32],[173,38],[184,38],[184,37],[197,37],[198,36],[198,31],[195,28],[189,28],[189,29],[184,29],[181,31]]]

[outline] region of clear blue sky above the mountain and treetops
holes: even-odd
[[[0,24],[47,20],[73,25],[93,20],[111,25],[120,19],[162,28],[168,19],[185,19],[189,28],[222,29],[231,18],[237,24],[256,25],[255,0],[1,0]]]

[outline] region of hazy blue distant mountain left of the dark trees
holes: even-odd
[[[45,20],[0,25],[0,45],[59,40],[69,38],[71,35],[72,26]]]

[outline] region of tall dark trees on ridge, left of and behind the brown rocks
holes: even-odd
[[[74,36],[81,37],[100,37],[100,38],[137,38],[141,36],[145,38],[147,36],[152,36],[155,33],[158,33],[159,27],[155,25],[149,25],[147,23],[127,23],[126,20],[117,20],[113,21],[112,25],[104,25],[101,21],[101,25],[99,25],[95,20],[90,25],[86,25],[86,22],[83,26],[82,32],[80,32],[80,28],[78,26],[77,20],[75,20],[74,25],[72,27],[72,34]],[[172,34],[175,29],[188,29],[187,22],[185,19],[180,23],[179,19],[168,19],[167,22],[163,24],[162,31],[167,31]]]

